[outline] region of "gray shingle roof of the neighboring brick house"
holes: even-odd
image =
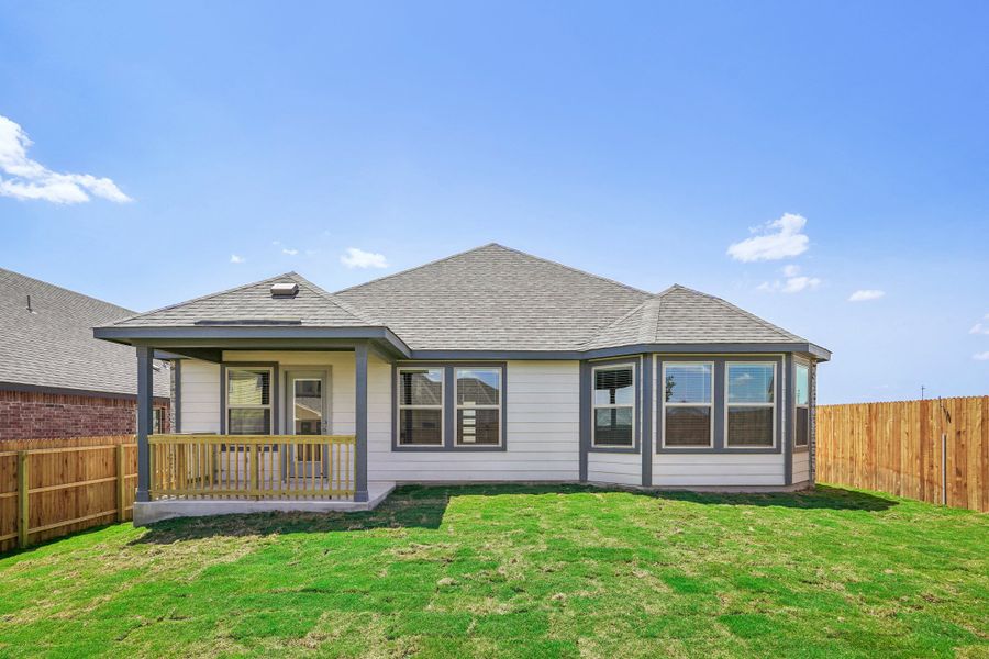
[[[27,295],[31,309],[27,310]],[[0,388],[4,386],[137,393],[134,348],[92,336],[134,312],[0,268]],[[167,365],[157,364],[155,395],[169,395]],[[162,377],[162,376],[166,377]]]

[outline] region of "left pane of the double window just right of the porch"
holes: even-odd
[[[398,369],[398,443],[443,446],[443,369]]]

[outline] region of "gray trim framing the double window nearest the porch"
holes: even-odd
[[[443,444],[411,446],[399,444],[399,384],[398,373],[402,368],[443,369]],[[454,369],[499,368],[501,369],[501,444],[499,446],[470,446],[456,443],[457,410],[454,398]],[[491,453],[508,450],[508,362],[505,361],[396,361],[391,365],[391,450],[392,453]]]

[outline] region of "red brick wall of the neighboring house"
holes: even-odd
[[[168,402],[156,399],[155,407],[165,410],[162,431],[170,432]],[[135,432],[137,402],[133,399],[0,391],[0,439],[129,435]]]

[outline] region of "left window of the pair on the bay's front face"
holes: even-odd
[[[663,445],[713,446],[712,362],[663,365]]]

